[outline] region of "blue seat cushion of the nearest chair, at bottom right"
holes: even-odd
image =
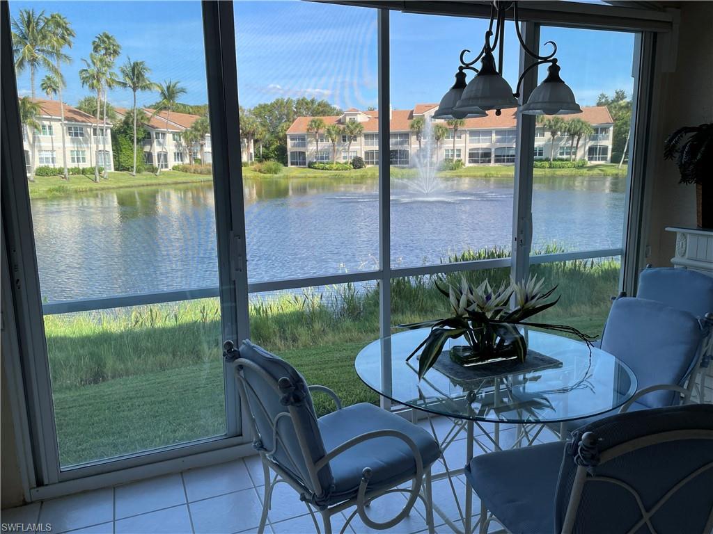
[[[555,493],[564,453],[565,443],[555,441],[481,454],[466,466],[466,477],[511,533],[548,534],[555,530]]]

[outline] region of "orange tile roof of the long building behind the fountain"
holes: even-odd
[[[424,110],[431,110],[438,104],[416,104],[413,110],[393,110],[391,112],[391,131],[408,131],[409,123],[414,118],[414,113],[423,113]],[[514,128],[517,124],[516,120],[517,108],[508,108],[503,110],[502,115],[499,117],[494,111],[489,111],[487,117],[476,117],[473,119],[466,119],[466,124],[462,129],[476,129],[476,128]],[[369,115],[371,119],[361,122],[364,125],[364,132],[378,132],[379,131],[379,112],[377,111],[365,111],[366,115]],[[579,117],[582,120],[590,122],[590,124],[612,124],[612,116],[609,114],[606,106],[591,106],[588,108],[582,108],[582,112],[577,115],[559,115],[565,120],[570,118]],[[321,117],[324,120],[324,124],[337,124],[341,115],[332,115],[329,117]],[[287,129],[287,133],[304,133],[307,132],[307,123],[314,117],[297,117],[297,119],[292,122],[292,125]]]

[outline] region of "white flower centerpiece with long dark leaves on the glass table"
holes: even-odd
[[[544,280],[532,276],[527,282],[504,283],[493,288],[488,280],[474,287],[465,276],[458,286],[448,289],[436,282],[436,288],[451,303],[453,315],[443,319],[421,323],[399,325],[401,328],[430,327],[431,332],[406,360],[414,357],[419,350],[419,379],[431,369],[441,355],[443,346],[449,339],[463,337],[467,345],[452,347],[451,360],[461,365],[478,365],[493,360],[518,360],[524,362],[528,347],[525,336],[518,326],[532,326],[545,330],[571,333],[591,345],[593,337],[581,333],[567,325],[525,322],[528,318],[558,303],[559,298],[550,300],[557,286],[543,290]],[[514,306],[510,303],[513,300]]]

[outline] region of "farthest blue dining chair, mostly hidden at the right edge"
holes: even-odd
[[[637,298],[657,300],[713,323],[713,277],[690,269],[647,266],[639,275]],[[698,399],[705,402],[705,382],[713,357],[713,335],[704,342],[701,360],[691,374]]]

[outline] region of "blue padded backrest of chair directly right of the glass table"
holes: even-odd
[[[625,362],[638,389],[656,384],[682,386],[694,369],[707,330],[690,313],[643,298],[621,297],[612,304],[602,335],[602,350]],[[649,408],[674,404],[678,393],[641,397]]]

